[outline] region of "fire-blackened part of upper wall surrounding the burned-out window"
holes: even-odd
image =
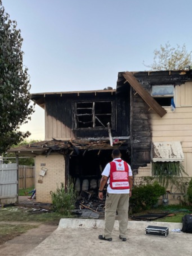
[[[130,104],[127,94],[122,93],[116,95],[116,92],[102,92],[102,93],[79,93],[79,94],[62,94],[62,95],[46,95],[45,104],[46,104],[46,112],[48,116],[54,117],[54,119],[59,120],[61,124],[67,126],[73,133],[76,138],[85,138],[85,137],[108,137],[108,128],[107,121],[103,122],[105,116],[102,116],[102,113],[96,113],[98,118],[101,118],[101,121],[104,123],[103,125],[97,125],[98,127],[86,127],[86,109],[81,110],[82,106],[87,106],[87,112],[91,111],[89,109],[90,102],[95,102],[97,106],[99,104],[105,104],[105,102],[111,102],[111,110],[109,110],[109,114],[111,114],[110,126],[112,136],[128,136],[129,132],[129,112],[130,112]],[[87,104],[86,104],[87,103]],[[79,109],[77,109],[79,107]],[[81,112],[77,112],[81,111]],[[99,109],[98,111],[104,112],[104,115],[107,117],[107,112],[105,107]],[[111,111],[111,112],[110,112]],[[77,114],[82,114],[83,118],[82,122],[77,123],[76,116]],[[90,112],[91,113],[91,112]],[[106,113],[106,114],[105,114]],[[81,117],[82,117],[81,116]],[[106,118],[106,120],[108,120]],[[85,124],[84,124],[85,121]],[[47,125],[50,124],[51,119]],[[96,120],[96,122],[99,122]],[[85,126],[85,127],[84,127]],[[100,127],[99,127],[100,126]]]

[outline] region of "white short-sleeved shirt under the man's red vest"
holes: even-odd
[[[121,159],[120,157],[117,157],[117,158],[113,159],[112,162],[114,162],[115,160],[122,160],[122,159]],[[130,166],[129,164],[127,164],[127,165],[128,165],[128,168],[129,168],[129,173],[128,173],[128,175],[129,175],[129,176],[132,176],[133,174],[132,174],[131,166]],[[108,163],[108,164],[105,166],[105,168],[104,168],[103,172],[101,173],[101,175],[102,175],[102,176],[107,176],[107,177],[109,177],[109,175],[110,175],[110,170],[111,170],[111,165],[110,165],[110,163]],[[108,184],[108,186],[107,186],[107,192],[108,192],[109,194],[129,194],[129,189],[112,189],[112,188],[110,187],[110,177],[108,178],[107,184]]]

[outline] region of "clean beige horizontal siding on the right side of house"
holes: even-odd
[[[165,108],[162,118],[156,113],[149,114],[153,142],[180,141],[185,160],[185,171],[192,177],[192,83],[175,87],[175,106]]]

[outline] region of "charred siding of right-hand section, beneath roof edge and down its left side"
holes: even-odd
[[[192,71],[158,71],[137,72],[134,74],[143,88],[150,93],[151,85],[154,84],[182,84],[191,80]],[[124,79],[119,74],[119,86],[124,87]],[[130,85],[128,85],[130,86]],[[148,119],[148,105],[130,87],[131,93],[131,147],[132,168],[137,171],[139,166],[150,163],[150,148],[152,133],[150,131],[150,120]]]

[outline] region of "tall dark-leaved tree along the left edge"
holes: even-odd
[[[23,67],[22,37],[0,0],[0,154],[27,138],[19,127],[30,120],[28,69]]]

